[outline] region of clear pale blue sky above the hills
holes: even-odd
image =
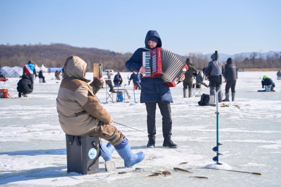
[[[280,0],[0,0],[0,44],[125,53],[156,30],[162,48],[179,55],[281,51],[280,7]]]

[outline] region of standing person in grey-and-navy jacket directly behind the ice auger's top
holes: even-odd
[[[219,55],[218,55],[219,58]],[[212,61],[209,62],[206,70],[206,76],[210,81],[210,95],[216,95],[216,92],[219,90],[219,75],[224,73],[224,65],[218,59],[215,59],[215,54],[211,56]],[[217,67],[217,65],[219,67]],[[218,102],[222,101],[222,93],[219,91]]]

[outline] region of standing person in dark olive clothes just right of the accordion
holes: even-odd
[[[188,70],[185,72],[185,79],[183,82],[183,92],[184,92],[184,98],[187,98],[186,91],[188,87],[188,97],[192,97],[192,86],[193,86],[193,74],[197,74],[198,70],[194,67],[194,64],[192,63],[192,60],[190,58],[187,58],[185,60],[185,63],[188,66]]]

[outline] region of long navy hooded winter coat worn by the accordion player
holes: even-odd
[[[148,31],[145,37],[145,48],[139,48],[126,62],[128,71],[139,71],[142,66],[142,52],[153,50],[148,46],[148,39],[151,36],[159,38],[156,47],[162,47],[162,41],[157,31]],[[158,103],[167,101],[173,103],[173,98],[169,87],[159,78],[141,78],[141,103]]]

